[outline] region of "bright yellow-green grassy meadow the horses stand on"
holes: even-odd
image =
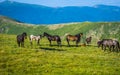
[[[29,39],[25,48],[16,44],[16,35],[0,34],[0,75],[119,75],[120,53],[104,52],[95,46],[49,46],[46,38],[40,46]],[[74,45],[74,42],[70,42]],[[81,43],[80,43],[81,44]]]

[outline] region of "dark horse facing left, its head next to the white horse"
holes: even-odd
[[[43,36],[47,37],[47,39],[50,42],[50,46],[51,46],[51,41],[56,41],[58,46],[61,46],[61,38],[58,35],[50,35],[50,34],[44,32]]]

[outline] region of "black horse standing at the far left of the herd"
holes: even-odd
[[[27,39],[27,33],[23,32],[22,34],[17,35],[16,39],[17,39],[18,46],[24,47],[24,40]]]

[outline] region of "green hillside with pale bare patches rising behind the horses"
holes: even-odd
[[[4,20],[4,21],[3,21]],[[27,32],[28,35],[43,34],[48,32],[52,35],[60,35],[63,39],[65,34],[84,33],[84,38],[92,36],[94,42],[102,38],[120,40],[120,22],[81,22],[56,25],[32,25],[0,17],[0,33],[20,34]]]

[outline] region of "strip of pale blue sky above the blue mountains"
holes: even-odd
[[[9,0],[9,1],[45,5],[50,7],[94,6],[98,4],[120,6],[120,0]]]

